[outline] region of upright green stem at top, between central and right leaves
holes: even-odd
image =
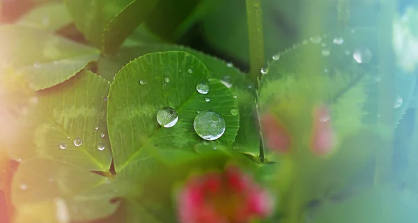
[[[264,64],[263,18],[261,0],[246,0],[247,27],[249,40],[249,75],[258,87],[258,77]]]

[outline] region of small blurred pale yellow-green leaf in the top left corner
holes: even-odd
[[[71,24],[72,18],[62,2],[52,1],[33,8],[20,17],[16,23],[47,31],[57,31]]]

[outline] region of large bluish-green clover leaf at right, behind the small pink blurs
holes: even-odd
[[[284,163],[278,173],[278,182],[286,182],[279,189],[287,203],[284,209],[300,211],[311,199],[340,190],[376,157],[387,143],[386,130],[394,128],[408,107],[415,76],[395,74],[394,92],[403,102],[378,95],[378,84],[385,77],[377,69],[376,39],[373,29],[313,36],[277,54],[263,75],[258,96],[261,116],[272,114],[292,142],[289,152],[278,157]],[[393,126],[378,125],[379,102],[393,105]],[[324,105],[327,116],[315,115]],[[332,152],[325,155],[311,148],[312,137],[322,134],[318,123],[329,123],[326,131],[336,140]]]

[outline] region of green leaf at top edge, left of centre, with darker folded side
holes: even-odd
[[[67,0],[79,31],[95,47],[113,52],[153,11],[159,0]]]

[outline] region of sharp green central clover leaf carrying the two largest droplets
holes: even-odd
[[[217,141],[233,143],[239,115],[233,116],[231,109],[238,109],[238,102],[224,84],[209,77],[206,66],[185,52],[146,54],[118,72],[109,92],[107,121],[111,146],[118,148],[113,152],[120,177],[137,176],[134,169],[144,164],[141,160],[147,160],[146,151],[189,150],[204,141],[193,128],[198,112],[222,116],[226,130]],[[207,94],[196,91],[201,82],[208,84]],[[206,102],[206,98],[210,101]],[[157,123],[157,112],[164,107],[171,107],[178,114],[178,122],[171,128]]]

